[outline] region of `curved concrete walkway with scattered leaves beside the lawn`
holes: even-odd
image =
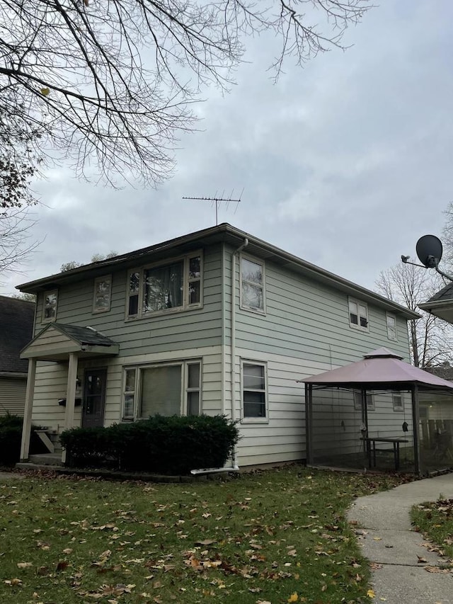
[[[453,474],[396,486],[391,491],[359,497],[348,511],[357,522],[357,538],[371,560],[374,602],[387,604],[453,604],[453,574],[431,573],[442,559],[424,547],[423,536],[412,530],[411,507],[453,498]],[[420,562],[418,557],[426,560]]]

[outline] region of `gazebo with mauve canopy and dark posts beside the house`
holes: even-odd
[[[453,467],[453,382],[387,348],[301,382],[308,465],[415,474]]]

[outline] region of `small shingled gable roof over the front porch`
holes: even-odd
[[[61,361],[71,353],[79,358],[114,356],[119,349],[116,342],[93,327],[51,323],[23,348],[21,358]]]

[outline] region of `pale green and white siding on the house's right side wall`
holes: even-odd
[[[253,256],[246,255],[253,260]],[[256,258],[259,260],[259,258]],[[231,249],[224,263],[231,271]],[[239,259],[236,261],[236,417],[241,418],[241,359],[265,362],[268,368],[268,423],[241,421],[239,465],[301,460],[306,457],[304,384],[309,375],[360,360],[365,353],[386,346],[408,360],[406,320],[397,317],[398,341],[390,341],[386,310],[368,304],[369,331],[349,324],[348,295],[287,268],[265,262],[265,314],[239,307]],[[231,279],[225,280],[224,323],[225,401],[231,414]],[[360,297],[358,297],[360,300]],[[375,412],[376,413],[376,412]],[[382,407],[379,431],[398,432],[396,412]],[[373,420],[374,421],[374,420]],[[398,425],[396,425],[398,424]],[[360,433],[359,433],[360,438]]]

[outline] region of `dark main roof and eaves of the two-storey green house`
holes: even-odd
[[[335,287],[348,295],[360,296],[361,300],[364,302],[377,304],[391,312],[403,315],[406,319],[416,319],[419,317],[415,312],[402,307],[400,304],[396,304],[396,302],[392,302],[371,290],[367,290],[365,287],[361,287],[356,283],[343,279],[343,277],[330,273],[328,270],[324,270],[319,266],[302,260],[302,258],[298,258],[287,251],[277,248],[262,239],[253,237],[253,235],[243,232],[240,229],[236,229],[236,227],[232,227],[231,224],[226,223],[190,233],[183,237],[176,237],[176,239],[169,239],[168,241],[163,241],[159,244],[130,253],[124,253],[120,256],[114,256],[113,258],[86,264],[79,268],[67,270],[64,273],[58,273],[57,275],[50,275],[49,277],[29,281],[28,283],[18,285],[18,290],[36,293],[42,290],[49,290],[53,287],[59,287],[59,285],[74,283],[82,278],[96,278],[115,270],[115,268],[134,268],[139,266],[140,263],[145,263],[147,261],[164,260],[170,254],[174,256],[176,253],[187,253],[191,250],[210,244],[224,242],[234,248],[238,248],[245,241],[247,241],[246,249],[248,253],[257,256],[258,258],[263,258],[265,261],[272,261],[279,266],[290,268],[296,273],[309,276],[319,283]]]

